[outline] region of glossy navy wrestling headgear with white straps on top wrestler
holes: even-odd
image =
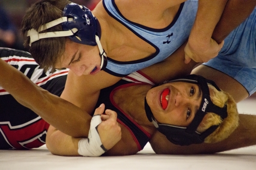
[[[72,41],[80,44],[97,45],[101,57],[100,68],[101,70],[106,68],[107,57],[100,43],[101,28],[97,18],[88,8],[76,3],[67,4],[62,11],[62,16],[57,20],[40,26],[38,31],[34,28],[30,29],[27,32],[27,37],[30,37],[29,46],[42,38],[69,37]],[[60,23],[64,31],[39,33]]]

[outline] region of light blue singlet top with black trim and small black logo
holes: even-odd
[[[182,3],[174,20],[169,26],[162,29],[148,28],[127,20],[118,10],[114,0],[103,0],[103,6],[111,17],[156,48],[156,53],[135,61],[119,62],[108,58],[108,64],[104,71],[114,76],[124,77],[166,59],[188,39],[196,16],[198,1],[187,0]]]

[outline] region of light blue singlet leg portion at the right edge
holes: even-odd
[[[219,55],[203,65],[233,77],[250,95],[256,91],[256,8],[224,40]]]

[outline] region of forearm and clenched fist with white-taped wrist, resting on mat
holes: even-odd
[[[95,110],[88,138],[68,136],[50,125],[46,136],[47,148],[51,153],[61,156],[101,156],[121,139],[117,113],[107,109],[106,115],[102,115],[104,109],[102,104]]]

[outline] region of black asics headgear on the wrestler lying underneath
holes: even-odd
[[[156,121],[156,119],[153,116],[153,113],[147,104],[146,98],[145,98],[145,111],[147,114],[147,118],[150,122],[153,122],[155,127],[159,132],[164,134],[166,138],[174,143],[179,145],[190,145],[190,144],[200,144],[204,142],[204,139],[209,136],[212,132],[214,132],[218,125],[214,125],[209,127],[206,131],[203,133],[198,133],[197,127],[199,126],[200,122],[203,120],[203,117],[206,115],[207,112],[213,112],[221,116],[222,119],[225,119],[227,117],[227,105],[225,104],[223,108],[220,108],[212,103],[212,100],[210,99],[210,92],[209,87],[207,85],[211,84],[213,85],[218,91],[221,91],[218,86],[213,82],[212,80],[205,79],[204,77],[197,76],[197,75],[189,75],[181,79],[174,79],[168,82],[190,82],[194,84],[200,85],[200,88],[203,93],[202,102],[199,107],[199,110],[195,114],[195,117],[193,121],[191,122],[188,127],[180,127],[180,126],[174,126],[174,125],[168,125],[168,124],[162,124]],[[165,82],[165,83],[168,83]],[[154,86],[156,87],[156,86]]]

